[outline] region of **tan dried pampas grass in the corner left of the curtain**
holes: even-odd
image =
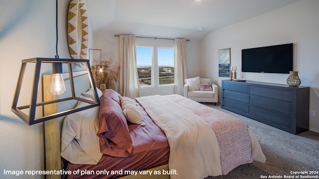
[[[118,91],[119,87],[119,80],[120,80],[120,64],[116,61],[113,62],[112,58],[110,57],[109,61],[102,61],[102,65],[105,65],[108,70],[108,75],[96,75],[96,66],[94,65],[91,67],[95,86],[100,88],[100,84],[105,84],[106,89],[113,89]]]

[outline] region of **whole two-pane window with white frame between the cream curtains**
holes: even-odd
[[[174,48],[136,47],[141,87],[174,83]]]

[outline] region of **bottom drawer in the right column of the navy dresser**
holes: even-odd
[[[274,123],[280,126],[285,126],[288,128],[292,127],[291,115],[286,115],[280,112],[267,110],[267,109],[256,107],[256,106],[250,106],[249,114],[257,116],[259,118],[262,118],[265,121],[269,121],[271,123]]]

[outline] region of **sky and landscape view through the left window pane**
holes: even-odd
[[[141,86],[152,85],[152,47],[136,47],[138,76]]]

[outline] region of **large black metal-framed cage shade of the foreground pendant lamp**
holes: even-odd
[[[43,66],[52,67],[51,64],[54,64],[54,63],[62,63],[64,66],[67,66],[68,68],[68,73],[63,74],[63,78],[65,78],[65,80],[67,81],[66,82],[67,91],[59,95],[54,95],[50,93],[50,84],[47,85],[45,79],[47,77],[51,77],[51,75],[48,74],[48,72],[43,72],[43,70],[41,70],[41,67]],[[86,70],[81,69],[80,71],[73,72],[72,64],[75,64],[75,63],[82,63],[82,64],[84,63],[86,66]],[[24,77],[27,65],[29,67],[29,64],[31,64],[30,66],[34,68],[34,71],[33,71],[34,75],[33,75],[33,78],[31,79],[33,83],[29,82],[30,79],[28,77]],[[54,71],[54,69],[52,70]],[[85,79],[85,81],[82,79]],[[27,82],[23,82],[23,80]],[[31,93],[30,100],[29,102],[27,102],[27,104],[20,105],[21,102],[19,100],[19,97],[21,98],[23,97],[24,99],[26,98],[25,97],[26,94],[29,92],[27,90],[28,88],[24,89],[25,84],[30,86],[30,89],[29,89]],[[75,88],[75,85],[76,87],[80,85],[80,86],[84,86],[85,88]],[[90,88],[93,89],[94,99],[88,100],[86,98],[80,97],[82,92],[86,92],[86,90]],[[85,90],[85,91],[81,91],[81,90]],[[21,91],[23,91],[23,95],[20,96]],[[22,100],[22,101],[26,101],[26,100]],[[87,105],[84,105],[84,106],[82,105],[82,107],[74,108],[74,106],[79,101],[85,102],[87,103]],[[63,106],[64,103],[72,103],[74,105],[73,107],[66,108]],[[95,87],[89,60],[56,59],[56,58],[32,58],[32,59],[22,60],[20,74],[18,77],[18,82],[16,85],[11,110],[28,125],[62,117],[64,115],[68,115],[74,112],[79,112],[79,111],[86,110],[99,105],[100,105],[100,100],[97,93],[97,89]],[[54,112],[52,112],[52,108],[55,109],[53,110]],[[50,109],[50,113],[47,112],[48,109]]]

